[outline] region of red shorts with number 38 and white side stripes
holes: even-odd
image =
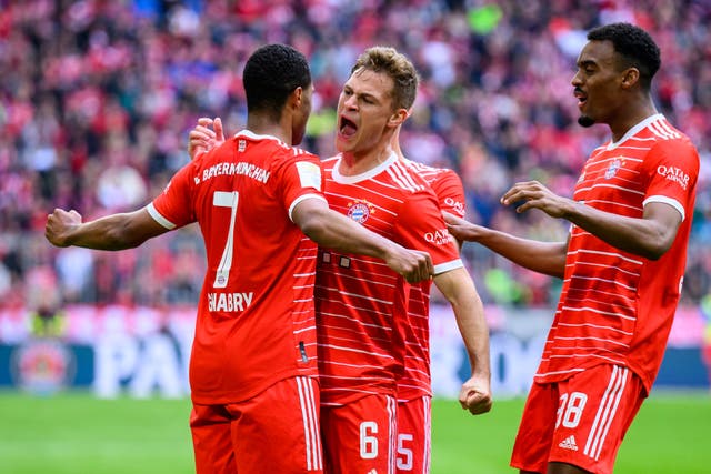
[[[595,474],[611,473],[644,393],[642,381],[632,371],[609,364],[562,382],[534,383],[511,466],[545,473],[549,462],[559,462]]]

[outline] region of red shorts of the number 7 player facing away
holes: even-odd
[[[319,384],[291,377],[229,405],[193,404],[198,474],[322,473]]]

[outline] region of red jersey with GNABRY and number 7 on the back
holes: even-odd
[[[207,274],[190,360],[200,404],[247,400],[274,382],[316,375],[317,245],[291,221],[324,199],[317,157],[242,131],[188,163],[149,204],[172,229],[198,222]]]

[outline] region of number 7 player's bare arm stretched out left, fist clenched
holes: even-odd
[[[44,236],[57,246],[84,246],[96,250],[132,249],[148,239],[168,232],[146,209],[107,215],[82,222],[81,214],[54,209],[47,216]]]

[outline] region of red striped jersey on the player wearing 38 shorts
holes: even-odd
[[[563,288],[537,381],[611,363],[629,366],[651,389],[681,293],[698,174],[695,148],[661,114],[592,152],[575,185],[577,201],[638,219],[644,204],[663,202],[683,221],[657,261],[571,228]]]

